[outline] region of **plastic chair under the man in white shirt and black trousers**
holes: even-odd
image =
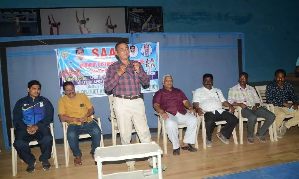
[[[192,95],[194,95],[195,91],[192,91]],[[224,107],[222,106],[223,109],[229,109],[228,107]],[[207,144],[206,144],[206,139],[207,139],[207,133],[206,133],[206,129],[205,129],[205,116],[199,116],[197,115],[197,118],[199,120],[199,125],[200,125],[200,121],[202,122],[202,146],[204,149],[207,149]],[[221,125],[226,124],[226,121],[216,121],[216,126],[217,126],[217,132],[220,132],[221,130]],[[235,145],[238,145],[238,139],[237,139],[237,133],[236,133],[236,127],[233,130],[233,138],[234,138],[234,143]]]

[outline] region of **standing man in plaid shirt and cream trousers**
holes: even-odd
[[[129,60],[129,47],[125,42],[116,44],[115,54],[119,60],[108,67],[104,87],[106,91],[112,91],[115,97],[113,109],[121,144],[131,143],[132,122],[141,143],[152,142],[140,95],[141,85],[149,85],[149,75],[140,62]],[[152,158],[148,162],[152,166]],[[128,171],[135,170],[135,160],[127,160],[126,164]]]

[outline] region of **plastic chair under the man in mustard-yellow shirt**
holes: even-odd
[[[102,131],[102,126],[101,126],[101,119],[97,118],[94,115],[91,115],[91,118],[97,120],[97,125],[100,127]],[[63,129],[63,144],[64,144],[64,155],[65,155],[65,166],[69,166],[69,155],[70,155],[70,146],[68,144],[68,139],[67,139],[67,131],[68,131],[68,124],[66,122],[61,122],[62,123],[62,129]],[[79,139],[84,139],[84,138],[90,138],[91,136],[86,133],[86,134],[80,134]],[[103,131],[101,134],[101,141],[100,141],[100,147],[104,147],[104,141],[103,141]]]

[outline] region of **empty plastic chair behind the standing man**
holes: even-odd
[[[118,130],[115,112],[113,109],[114,96],[113,95],[108,96],[108,99],[110,105],[110,115],[108,115],[108,119],[111,121],[112,145],[116,145],[116,135],[119,134],[119,130]],[[145,115],[145,121],[147,121],[147,115]],[[136,133],[136,143],[139,143],[139,138],[133,123],[132,123],[132,133]]]

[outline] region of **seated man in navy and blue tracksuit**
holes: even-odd
[[[28,165],[26,172],[35,171],[36,159],[30,151],[29,142],[37,140],[42,155],[39,161],[44,170],[50,169],[53,137],[50,123],[53,122],[54,108],[51,102],[39,96],[41,84],[33,80],[28,83],[28,96],[19,99],[13,108],[13,126],[15,142],[13,143],[19,157]]]

